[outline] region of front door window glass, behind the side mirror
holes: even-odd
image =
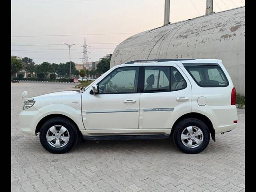
[[[112,71],[99,84],[100,93],[134,93],[138,87],[139,67],[122,67]]]

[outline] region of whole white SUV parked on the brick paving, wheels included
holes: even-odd
[[[22,97],[26,96],[24,92]],[[52,153],[86,140],[173,138],[185,153],[236,128],[236,90],[221,60],[136,60],[86,88],[26,98],[20,130]]]

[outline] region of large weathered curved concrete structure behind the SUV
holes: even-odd
[[[110,67],[137,59],[221,59],[245,95],[245,7],[141,32],[121,42]]]

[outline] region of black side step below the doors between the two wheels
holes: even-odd
[[[169,138],[168,135],[102,135],[102,136],[86,136],[83,135],[83,138],[85,140],[94,140],[94,141],[100,141],[100,140],[133,140],[133,139],[167,139]]]

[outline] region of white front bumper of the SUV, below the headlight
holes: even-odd
[[[19,114],[19,128],[22,133],[36,135],[36,125],[42,114],[32,106],[29,109],[22,110]]]

